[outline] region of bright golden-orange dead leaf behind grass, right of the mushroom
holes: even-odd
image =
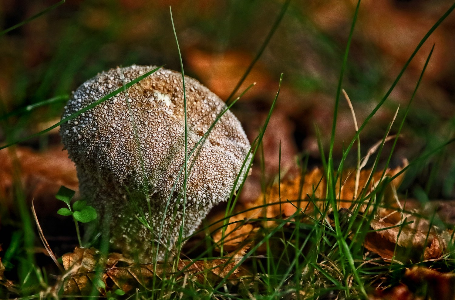
[[[407,162],[404,163],[404,166]],[[384,176],[392,177],[399,173],[403,167],[387,169]],[[346,170],[340,176],[336,190],[340,191],[337,198],[338,208],[352,208],[353,200],[363,190],[368,195],[379,183],[383,172],[374,173],[373,179],[366,186],[371,170],[362,170],[360,172],[359,181],[356,185],[356,172],[354,170]],[[387,187],[389,191],[384,198],[391,202],[393,200],[392,190],[396,189],[403,180],[404,174],[395,178]],[[261,195],[256,201],[249,203],[238,203],[235,212],[228,221],[219,221],[224,218],[224,212],[214,215],[209,223],[213,224],[210,230],[213,232],[213,239],[216,243],[223,240],[223,248],[227,250],[236,249],[239,244],[253,239],[254,234],[258,231],[258,222],[256,219],[261,219],[261,226],[273,227],[277,223],[276,219],[288,218],[298,211],[302,211],[307,215],[315,216],[318,208],[325,205],[324,200],[326,193],[326,182],[324,172],[320,168],[314,168],[312,171],[303,176],[295,176],[293,178],[284,178],[280,185],[273,185],[268,189],[265,195]],[[361,208],[363,211],[364,207]],[[228,225],[222,229],[223,222]]]

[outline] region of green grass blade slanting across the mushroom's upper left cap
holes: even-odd
[[[159,69],[161,68],[161,66],[157,67],[156,69],[153,69],[152,71],[149,71],[147,73],[145,73],[144,75],[141,75],[139,77],[137,77],[136,79],[128,82],[125,86],[121,86],[119,87],[118,89],[116,89],[114,92],[111,92],[109,94],[107,94],[105,97],[102,97],[101,99],[91,103],[90,105],[82,108],[81,110],[71,114],[71,116],[69,117],[66,117],[64,119],[62,119],[60,122],[57,122],[56,124],[52,125],[51,127],[48,127],[40,132],[37,132],[37,133],[34,133],[34,134],[31,134],[29,135],[28,137],[24,137],[24,138],[21,138],[21,139],[18,139],[16,140],[15,142],[10,142],[4,146],[0,146],[0,150],[1,149],[4,149],[4,148],[7,148],[7,147],[10,147],[12,145],[15,145],[17,143],[20,143],[20,142],[24,142],[26,140],[29,140],[30,138],[33,138],[33,137],[37,137],[37,136],[40,136],[41,134],[43,133],[46,133],[46,132],[49,132],[51,131],[52,129],[60,126],[61,124],[65,123],[65,122],[68,122],[69,120],[72,120],[74,119],[75,117],[81,115],[82,113],[88,111],[89,109],[93,108],[93,107],[96,107],[98,104],[101,104],[102,102],[105,102],[106,100],[110,99],[111,97],[115,96],[116,94],[122,92],[125,88],[129,88],[130,86],[133,86],[134,84],[136,84],[137,82],[141,81],[142,79],[146,78],[147,76],[155,73],[156,71],[158,71]]]

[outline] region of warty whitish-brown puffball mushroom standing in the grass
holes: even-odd
[[[98,74],[73,93],[62,118],[154,68],[132,65]],[[193,78],[186,76],[185,85],[190,153],[226,105]],[[188,154],[183,199],[184,117],[182,74],[160,69],[61,125],[81,195],[101,215],[101,226],[107,224],[114,248],[140,263],[172,252],[181,226],[183,238],[191,235],[210,209],[238,188],[236,178],[242,182],[243,162],[248,166],[250,160],[245,132],[227,111]]]

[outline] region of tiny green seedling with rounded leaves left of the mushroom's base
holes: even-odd
[[[96,210],[93,206],[87,205],[86,200],[78,200],[70,205],[71,198],[73,198],[76,192],[70,188],[61,186],[56,198],[65,202],[68,208],[62,207],[57,211],[57,214],[62,216],[73,216],[74,224],[76,226],[77,240],[79,245],[82,247],[81,234],[79,232],[79,225],[77,222],[88,223],[96,219]]]

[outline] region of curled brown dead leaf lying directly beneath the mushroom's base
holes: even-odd
[[[109,290],[121,289],[124,292],[147,287],[154,276],[160,280],[175,272],[181,276],[190,276],[201,283],[214,283],[229,275],[229,280],[237,278],[238,262],[243,258],[249,245],[234,251],[220,259],[206,259],[199,261],[180,260],[176,270],[172,270],[169,263],[158,262],[153,264],[134,264],[118,253],[108,254],[107,257],[96,249],[76,248],[73,253],[63,255],[63,265],[70,276],[64,284],[65,295],[89,295],[95,287],[102,295]],[[101,282],[106,288],[101,288]]]

